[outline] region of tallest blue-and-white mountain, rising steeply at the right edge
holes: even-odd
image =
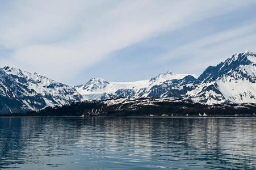
[[[217,66],[209,66],[187,97],[207,104],[256,103],[256,54],[237,53]]]

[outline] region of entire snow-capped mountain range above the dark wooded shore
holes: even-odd
[[[0,113],[24,113],[115,97],[176,97],[209,105],[256,103],[255,81],[256,54],[249,51],[209,66],[200,76],[167,71],[137,82],[92,78],[75,87],[6,66],[0,68]]]

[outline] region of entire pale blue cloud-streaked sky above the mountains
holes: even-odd
[[[1,0],[0,67],[75,86],[200,75],[256,52],[253,0]]]

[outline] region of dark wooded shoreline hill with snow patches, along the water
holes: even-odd
[[[240,116],[254,117],[256,104],[215,104],[205,105],[193,103],[191,100],[154,101],[153,104],[142,104],[149,98],[94,100],[63,105],[62,107],[47,107],[40,111],[27,113],[2,114],[1,116]],[[111,103],[111,104],[110,104]]]

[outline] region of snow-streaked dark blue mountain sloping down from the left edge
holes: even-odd
[[[0,69],[0,113],[36,111],[45,107],[71,104],[82,96],[74,87],[55,82],[36,73],[4,67]],[[10,101],[8,101],[8,100]]]

